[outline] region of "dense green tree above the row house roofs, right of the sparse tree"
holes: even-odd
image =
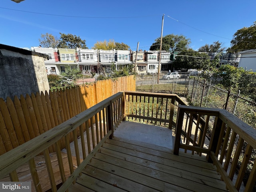
[[[85,40],[82,40],[80,36],[64,33],[60,33],[60,42],[58,44],[58,48],[88,49],[88,47],[85,44]]]

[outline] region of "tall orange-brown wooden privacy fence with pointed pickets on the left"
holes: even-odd
[[[134,76],[101,80],[91,85],[0,98],[0,155],[54,128],[119,91],[135,91]],[[78,136],[79,136],[78,131]],[[70,142],[73,140],[70,135]],[[64,141],[61,148],[64,148]],[[55,147],[49,148],[54,152]]]

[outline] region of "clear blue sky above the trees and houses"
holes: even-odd
[[[41,34],[61,32],[80,36],[88,48],[111,39],[149,50],[164,14],[163,36],[182,34],[194,50],[214,41],[228,48],[238,29],[256,21],[255,7],[255,0],[1,0],[0,44],[30,48]]]

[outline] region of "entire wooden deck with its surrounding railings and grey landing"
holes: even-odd
[[[56,151],[58,173],[49,147]],[[24,181],[16,170],[28,163],[32,191],[43,191],[35,157],[44,154],[52,191],[238,191],[255,148],[255,130],[225,110],[187,106],[174,94],[119,92],[1,155],[0,178]],[[252,191],[256,180],[251,166],[244,191]]]

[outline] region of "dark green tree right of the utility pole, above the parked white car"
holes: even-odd
[[[176,56],[174,68],[207,70],[210,67],[210,60],[208,58],[208,54],[199,53],[193,49],[183,50]]]

